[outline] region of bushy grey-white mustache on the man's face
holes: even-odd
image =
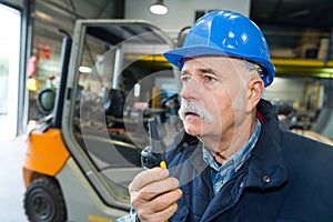
[[[213,122],[213,117],[204,107],[193,101],[183,100],[178,111],[181,120],[184,120],[185,114],[189,112],[198,114],[206,123]]]

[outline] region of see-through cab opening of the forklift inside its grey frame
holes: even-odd
[[[150,118],[158,120],[165,143],[181,128],[179,80],[162,57],[170,44],[147,30],[87,28],[79,67],[90,69],[78,74],[73,129],[81,149],[107,178],[112,169],[141,168]]]

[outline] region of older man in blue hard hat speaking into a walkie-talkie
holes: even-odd
[[[208,13],[164,57],[181,69],[184,131],[168,148],[168,170],[133,179],[132,213],[121,220],[333,221],[332,147],[279,127],[261,99],[274,67],[251,20]]]

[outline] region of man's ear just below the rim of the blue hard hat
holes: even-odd
[[[263,83],[262,79],[254,78],[254,79],[250,80],[246,89],[248,89],[246,111],[250,112],[259,103],[261,95],[263,93],[263,90],[264,90],[264,83]]]

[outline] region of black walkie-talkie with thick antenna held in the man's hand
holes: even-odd
[[[154,118],[148,121],[150,145],[141,151],[141,165],[143,169],[161,167],[167,169],[164,152],[165,144],[160,140],[157,121]]]

